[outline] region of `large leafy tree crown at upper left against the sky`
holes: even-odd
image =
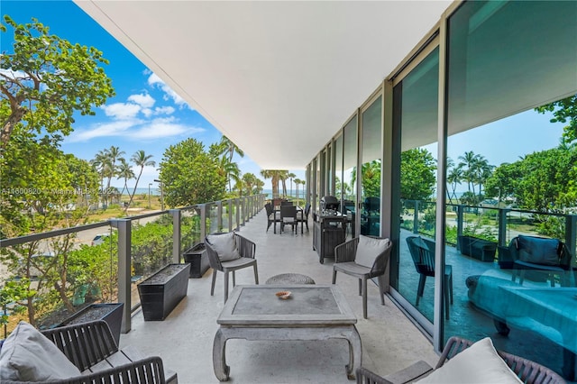
[[[0,55],[0,142],[5,149],[18,124],[31,133],[72,131],[73,114],[94,114],[92,108],[104,105],[114,96],[107,64],[96,48],[72,44],[49,32],[32,19],[17,24],[5,15],[0,24],[3,33],[14,33],[14,51]]]

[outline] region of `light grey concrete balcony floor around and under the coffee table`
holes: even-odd
[[[331,284],[333,259],[318,262],[312,249],[310,231],[273,233],[266,230],[264,210],[241,227],[243,236],[256,242],[261,284],[271,276],[285,272],[302,273],[316,284]],[[289,228],[289,227],[287,227]],[[180,383],[215,383],[212,362],[216,318],[224,306],[224,276],[218,273],[215,296],[210,296],[212,270],[202,279],[188,280],[188,296],[172,313],[159,322],[145,322],[139,310],[133,315],[132,330],[122,334],[121,347],[133,345],[148,355],[158,355],[165,366],[176,370]],[[252,268],[236,272],[236,283],[254,284]],[[357,316],[362,340],[362,365],[380,374],[388,374],[418,360],[434,365],[438,360],[433,346],[416,325],[389,297],[380,305],[378,288],[369,284],[367,320],[362,318],[362,298],[358,282],[339,274],[337,285]],[[226,345],[226,361],[231,367],[230,381],[235,383],[351,383],[345,374],[348,345],[344,340],[318,342],[248,342],[231,340]]]

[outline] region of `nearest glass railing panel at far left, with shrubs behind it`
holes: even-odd
[[[115,238],[105,224],[2,248],[0,338],[21,320],[52,328],[92,303],[116,302]]]

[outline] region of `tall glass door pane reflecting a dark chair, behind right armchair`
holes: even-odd
[[[395,269],[391,285],[431,324],[438,310],[434,306],[438,74],[435,48],[393,88],[395,130],[400,134],[395,160],[398,200],[393,210],[399,216],[398,254],[391,262]]]

